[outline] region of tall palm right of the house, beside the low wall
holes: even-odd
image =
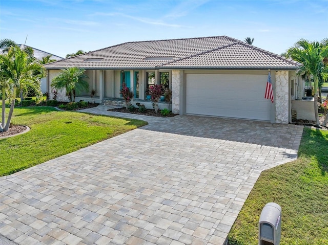
[[[296,47],[288,50],[289,56],[302,63],[303,65],[297,72],[297,75],[306,74],[309,81],[314,81],[314,112],[316,118],[316,126],[320,125],[318,114],[318,87],[319,82],[327,79],[328,73],[325,71],[323,63],[324,57],[328,56],[328,46],[324,47],[318,42],[309,42],[304,39],[296,43]]]

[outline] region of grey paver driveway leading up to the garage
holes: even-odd
[[[29,245],[223,244],[260,172],[294,160],[302,135],[295,125],[146,118],[1,177],[0,234]]]

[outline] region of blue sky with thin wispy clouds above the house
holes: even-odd
[[[328,0],[0,0],[0,38],[61,57],[127,41],[226,35],[281,54],[328,37]]]

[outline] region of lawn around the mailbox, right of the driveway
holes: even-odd
[[[258,244],[265,204],[282,208],[281,245],[328,244],[328,131],[304,128],[296,161],[262,172],[235,224],[229,244]]]

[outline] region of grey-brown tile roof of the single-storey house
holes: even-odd
[[[299,63],[228,36],[125,42],[47,69],[297,69]]]

